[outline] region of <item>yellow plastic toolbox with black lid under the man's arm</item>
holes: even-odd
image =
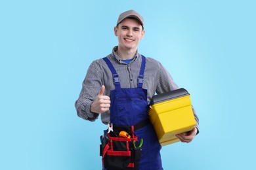
[[[154,95],[148,114],[161,146],[179,142],[175,135],[196,126],[190,94],[184,88]]]

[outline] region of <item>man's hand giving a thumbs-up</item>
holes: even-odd
[[[102,85],[100,92],[98,93],[95,101],[91,103],[91,112],[102,113],[110,109],[110,97],[108,95],[103,95],[105,91],[105,86]]]

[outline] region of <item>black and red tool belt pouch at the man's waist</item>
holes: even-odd
[[[134,135],[133,126],[114,126],[114,131],[101,137],[100,156],[106,169],[139,169],[141,144]],[[118,137],[120,131],[126,131],[131,138]],[[142,139],[140,139],[142,140]]]

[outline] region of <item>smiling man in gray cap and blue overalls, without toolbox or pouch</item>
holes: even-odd
[[[104,124],[135,126],[148,119],[148,103],[155,93],[178,88],[160,62],[139,54],[137,46],[144,33],[144,20],[135,10],[119,15],[114,27],[118,46],[106,58],[91,63],[75,102],[79,117],[95,121],[100,114]],[[195,111],[194,116],[196,127],[189,135],[177,135],[181,142],[190,143],[198,133]],[[152,124],[135,130],[135,135],[144,141],[140,169],[163,169],[161,145]]]

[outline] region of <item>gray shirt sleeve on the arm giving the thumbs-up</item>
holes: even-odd
[[[99,67],[96,61],[89,66],[87,75],[83,80],[82,89],[77,101],[75,101],[75,109],[77,116],[91,122],[95,121],[99,114],[91,112],[91,103],[95,100],[96,95],[100,92],[102,79],[100,78]]]

